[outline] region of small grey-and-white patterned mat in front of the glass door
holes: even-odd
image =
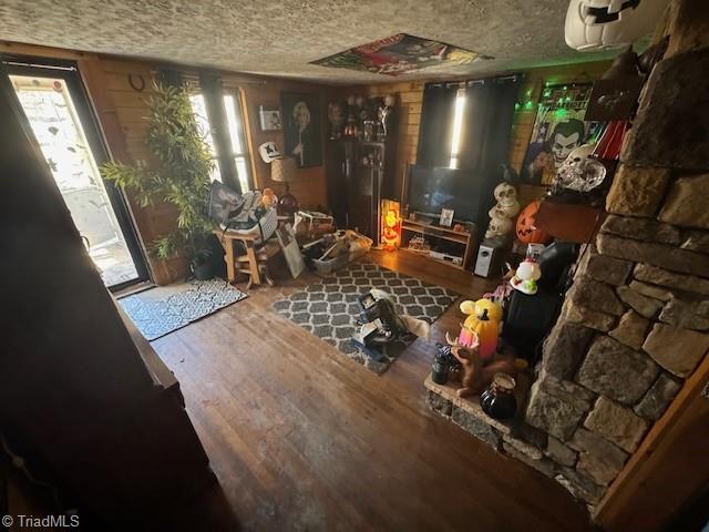
[[[154,340],[246,297],[224,280],[210,279],[152,288],[119,303],[142,335]]]

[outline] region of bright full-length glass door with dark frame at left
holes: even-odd
[[[104,284],[116,290],[146,280],[124,198],[99,173],[107,155],[76,69],[16,63],[6,69]]]

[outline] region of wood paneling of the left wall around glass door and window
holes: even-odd
[[[147,126],[147,99],[152,93],[154,72],[160,66],[150,61],[105,57],[94,53],[76,52],[31,44],[0,41],[0,51],[27,57],[69,59],[79,63],[79,70],[86,85],[89,96],[96,112],[101,130],[114,160],[127,164],[151,164],[151,153],[145,146]],[[175,68],[174,65],[172,68]],[[193,71],[187,66],[185,71]],[[194,72],[192,72],[194,73]],[[135,91],[129,75],[141,76],[145,89]],[[285,186],[270,181],[270,166],[258,155],[258,146],[266,141],[274,141],[282,150],[282,132],[263,132],[258,116],[259,105],[280,106],[282,91],[316,94],[320,102],[322,141],[322,164],[298,171],[298,178],[290,185],[291,193],[301,206],[307,208],[327,205],[327,183],[325,174],[325,134],[327,129],[327,91],[326,85],[301,83],[291,80],[264,79],[259,76],[222,73],[225,83],[242,88],[243,105],[247,122],[247,140],[251,153],[251,167],[256,186],[273,187],[281,194]],[[164,285],[184,277],[187,265],[183,258],[160,260],[148,252],[151,243],[157,237],[173,231],[177,224],[175,208],[166,203],[142,207],[130,191],[125,194],[130,214],[135,222],[144,254],[148,259],[151,276],[157,284]]]

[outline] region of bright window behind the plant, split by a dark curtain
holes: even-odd
[[[189,96],[189,102],[214,161],[212,181],[238,187],[240,192],[250,191],[249,153],[238,92],[220,91],[217,95],[220,104],[209,101],[209,95],[197,92]]]

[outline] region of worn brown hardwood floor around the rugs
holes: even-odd
[[[402,252],[370,257],[472,298],[496,284]],[[559,484],[428,409],[431,345],[417,340],[377,376],[270,309],[314,279],[281,273],[277,287],[254,288],[153,342],[240,528],[588,529],[586,510]],[[432,340],[460,319],[453,305]],[[191,516],[201,519],[194,509]]]

